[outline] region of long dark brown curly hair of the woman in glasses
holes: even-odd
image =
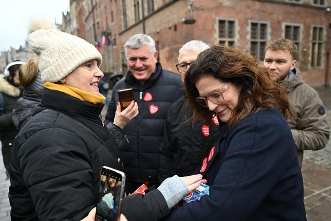
[[[287,95],[289,90],[273,82],[268,70],[250,54],[223,45],[204,50],[196,58],[185,75],[184,90],[187,106],[193,110],[193,121],[203,117],[210,122],[212,113],[199,105],[195,98],[199,92],[195,83],[212,76],[223,82],[231,82],[239,88],[237,107],[232,110],[227,124],[231,127],[253,111],[275,109],[285,118],[292,115]]]

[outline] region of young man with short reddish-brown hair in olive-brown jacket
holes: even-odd
[[[288,99],[294,117],[287,121],[302,166],[304,150],[320,150],[328,143],[327,114],[318,93],[304,83],[296,68],[297,46],[289,39],[280,38],[270,42],[265,51],[263,65],[270,70],[270,77],[290,90]]]

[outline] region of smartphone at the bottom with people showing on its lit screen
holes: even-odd
[[[117,221],[121,216],[124,197],[125,174],[119,170],[103,166],[100,172],[96,221]]]

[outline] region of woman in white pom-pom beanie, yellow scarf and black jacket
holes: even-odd
[[[93,220],[92,209],[100,200],[101,167],[123,170],[117,142],[100,116],[105,101],[98,90],[104,76],[99,69],[102,57],[92,44],[57,30],[47,21],[36,19],[29,26],[28,41],[39,56],[44,90],[40,107],[14,141],[10,215],[12,220],[81,220],[91,211],[86,219]],[[122,118],[128,118],[129,113],[134,117],[138,114],[137,103],[118,113],[123,114]],[[194,189],[200,179],[191,176],[185,183],[193,184],[189,189]],[[172,186],[177,201],[188,193],[180,179],[181,189]],[[168,198],[173,201],[174,197],[164,197],[162,190],[151,191],[144,199],[134,195],[124,199],[122,213],[161,219],[169,213]],[[143,202],[154,205],[154,213],[135,210]]]

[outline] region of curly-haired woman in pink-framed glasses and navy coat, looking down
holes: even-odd
[[[184,88],[193,120],[216,114],[220,134],[199,168],[209,196],[166,220],[306,220],[287,90],[251,55],[226,46],[201,52]]]

